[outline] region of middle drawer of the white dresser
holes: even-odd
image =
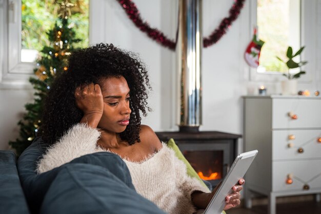
[[[272,131],[272,160],[320,158],[320,130]]]

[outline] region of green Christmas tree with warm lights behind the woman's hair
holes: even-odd
[[[42,110],[50,85],[55,77],[68,71],[67,58],[75,50],[77,42],[81,41],[75,38],[73,25],[68,18],[71,15],[70,8],[74,4],[68,0],[56,2],[60,6],[58,18],[53,29],[47,33],[51,46],[45,46],[41,50],[36,61],[37,67],[34,69],[37,78],[29,79],[35,90],[34,102],[25,105],[27,113],[18,122],[19,138],[9,142],[18,156],[32,143],[37,134],[41,133]]]

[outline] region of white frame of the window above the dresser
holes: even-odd
[[[299,82],[309,83],[312,82],[312,74],[315,72],[315,53],[316,49],[313,46],[315,40],[316,26],[316,1],[303,1],[300,0],[300,46],[306,46],[305,51],[302,53],[302,60],[308,60],[307,65],[303,68],[307,73],[302,75],[297,80]],[[256,26],[256,13],[257,13],[257,1],[250,1],[250,20],[249,20],[249,35],[253,33],[253,26]],[[309,33],[308,33],[309,32]],[[311,39],[313,35],[313,39]],[[249,80],[252,82],[279,82],[285,80],[285,77],[281,73],[258,73],[256,68],[249,67]]]

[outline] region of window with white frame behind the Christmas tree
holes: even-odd
[[[28,82],[35,68],[35,57],[45,45],[46,32],[53,26],[59,9],[56,2],[76,4],[71,8],[76,37],[88,46],[89,0],[0,0],[0,81]]]

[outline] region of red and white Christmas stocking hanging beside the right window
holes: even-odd
[[[264,41],[257,38],[257,28],[254,28],[253,38],[246,51],[244,57],[249,66],[257,68],[259,65],[259,55],[264,45]]]

